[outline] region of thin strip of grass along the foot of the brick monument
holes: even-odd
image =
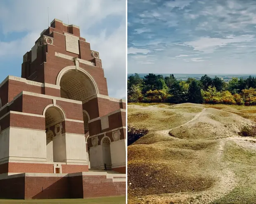
[[[125,204],[125,196],[102,197],[90,199],[43,199],[43,200],[10,200],[0,199],[0,204]]]

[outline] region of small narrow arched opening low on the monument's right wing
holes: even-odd
[[[102,158],[104,166],[107,167],[107,170],[110,170],[112,168],[112,162],[111,162],[111,151],[110,151],[110,138],[107,136],[104,136],[101,140],[101,146],[102,146]]]

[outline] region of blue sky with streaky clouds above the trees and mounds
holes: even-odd
[[[256,0],[128,0],[128,73],[256,74]]]

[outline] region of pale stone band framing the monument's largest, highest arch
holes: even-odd
[[[99,94],[99,88],[97,86],[96,81],[92,77],[92,75],[90,75],[88,72],[86,72],[85,70],[83,70],[80,67],[77,68],[75,65],[70,65],[70,66],[64,67],[59,72],[59,74],[57,76],[57,80],[56,80],[56,85],[60,86],[60,82],[61,82],[62,76],[64,76],[64,74],[66,74],[67,72],[72,71],[72,70],[77,71],[77,72],[81,72],[90,81],[90,83],[92,84],[92,87],[94,89],[94,95],[95,94]],[[90,97],[90,96],[88,96],[88,97]]]

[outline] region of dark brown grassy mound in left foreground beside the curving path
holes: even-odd
[[[165,163],[140,163],[128,165],[129,195],[153,195],[172,192],[205,190],[213,184],[210,177],[185,175]]]

